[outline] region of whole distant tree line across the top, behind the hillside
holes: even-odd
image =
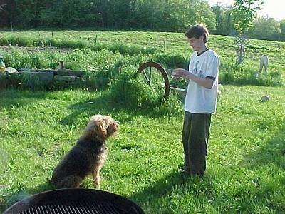
[[[210,7],[207,0],[6,0],[0,5],[0,27],[185,31],[199,22],[212,34],[233,36],[231,14],[231,7]],[[285,20],[260,17],[248,35],[285,41]]]

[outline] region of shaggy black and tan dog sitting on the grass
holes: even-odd
[[[95,115],[76,145],[53,170],[51,183],[56,188],[78,188],[87,175],[100,188],[100,169],[107,158],[106,139],[118,131],[118,122],[110,116]]]

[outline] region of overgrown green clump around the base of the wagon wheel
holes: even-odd
[[[151,116],[181,115],[181,101],[170,94],[165,101],[163,94],[153,90],[147,83],[138,81],[133,70],[128,68],[111,83],[110,101],[123,108],[147,113]]]

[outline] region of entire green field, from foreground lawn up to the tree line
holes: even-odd
[[[76,49],[0,46],[7,63],[16,68],[31,66],[33,61],[56,68],[58,59],[63,58],[71,68],[88,73],[115,72],[118,63],[123,72],[135,72],[144,61],[167,56],[182,56],[187,61],[191,53],[184,34],[175,33],[53,31],[51,36],[51,31],[25,31],[1,32],[0,36],[2,40],[19,36],[26,44],[39,37],[43,41],[52,37],[58,44],[90,44]],[[118,51],[115,43],[119,44]],[[108,46],[92,50],[96,44]],[[227,70],[233,68],[230,64],[235,60],[234,38],[211,35],[209,47],[221,58],[220,74],[234,73]],[[150,51],[143,52],[147,48]],[[267,54],[269,75],[279,73],[284,81],[284,49],[284,42],[250,40],[244,72],[258,72],[259,58]],[[171,68],[169,61],[164,62]],[[90,116],[100,113],[120,121],[118,136],[108,141],[108,160],[101,171],[102,190],[135,201],[145,213],[284,212],[284,86],[222,83],[217,113],[212,116],[207,172],[200,180],[178,172],[183,162],[182,103],[168,103],[166,108],[157,106],[153,110],[119,105],[109,88],[122,74],[111,76],[106,87],[96,90],[1,89],[0,211],[28,195],[51,189],[46,178],[81,136]],[[271,100],[260,102],[264,95]],[[83,188],[94,188],[91,179],[84,181]]]

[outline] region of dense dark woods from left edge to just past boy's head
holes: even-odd
[[[120,29],[185,31],[202,22],[215,29],[215,16],[206,0],[6,0],[0,24],[90,26]],[[1,6],[1,4],[0,4]],[[0,9],[1,10],[1,9]]]

